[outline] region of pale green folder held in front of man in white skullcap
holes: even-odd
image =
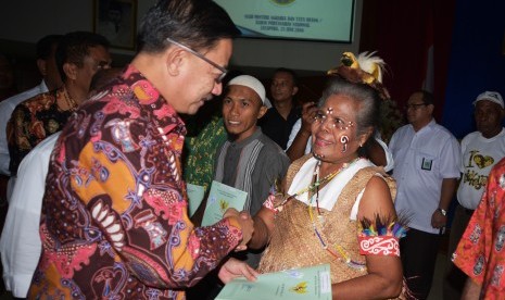
[[[245,191],[213,180],[203,212],[202,226],[210,226],[220,221],[229,208],[242,211],[247,199]]]

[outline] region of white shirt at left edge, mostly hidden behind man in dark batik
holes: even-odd
[[[11,175],[9,171],[9,162],[11,157],[9,155],[9,148],[7,145],[7,123],[11,118],[12,112],[15,107],[21,102],[28,100],[31,97],[35,97],[39,93],[48,91],[46,83],[42,80],[40,85],[23,91],[21,93],[14,95],[0,102],[0,173],[3,175]]]

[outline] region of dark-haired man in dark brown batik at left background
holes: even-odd
[[[7,125],[9,170],[13,176],[26,154],[60,132],[77,105],[86,100],[93,76],[111,66],[109,41],[88,32],[64,35],[54,57],[63,85],[17,104]]]

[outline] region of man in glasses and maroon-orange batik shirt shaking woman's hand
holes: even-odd
[[[236,34],[213,1],[150,9],[131,64],[79,107],[56,141],[29,299],[184,299],[249,241],[253,222],[235,210],[213,226],[191,224],[180,170],[178,113],[194,114],[222,92]],[[235,271],[228,262],[225,275]]]

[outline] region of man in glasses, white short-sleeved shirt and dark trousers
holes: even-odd
[[[407,100],[408,123],[392,136],[396,212],[409,216],[407,236],[400,240],[408,288],[417,299],[431,289],[440,234],[459,178],[462,151],[456,138],[433,118],[434,99],[426,90]]]

